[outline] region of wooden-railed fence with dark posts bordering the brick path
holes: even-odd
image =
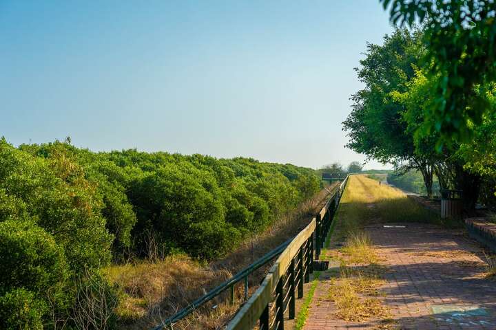
[[[313,259],[318,259],[348,177],[322,210],[287,245],[272,265],[262,284],[227,325],[228,330],[284,329],[286,314],[295,318],[296,298],[303,297],[303,283],[309,282]]]

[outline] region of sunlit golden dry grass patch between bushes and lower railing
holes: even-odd
[[[126,329],[156,325],[231,276],[227,270],[211,270],[183,255],[113,265],[103,272],[119,289],[116,314]]]

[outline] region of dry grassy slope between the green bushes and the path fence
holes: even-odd
[[[329,188],[329,187],[328,187]],[[327,197],[322,190],[310,203],[294,210],[268,230],[243,243],[224,259],[201,263],[184,255],[163,260],[141,261],[112,265],[104,270],[109,281],[116,285],[121,299],[116,310],[119,327],[147,329],[176,313],[209,289],[236,274],[260,256],[289,239],[304,228]],[[256,289],[267,267],[260,268],[249,278],[250,291]],[[236,303],[227,301],[225,292],[216,302],[196,311],[174,325],[174,329],[218,329],[225,325],[242,302],[242,283],[236,287]],[[216,306],[215,308],[213,308]]]

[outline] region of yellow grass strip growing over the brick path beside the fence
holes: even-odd
[[[380,299],[386,269],[363,228],[384,222],[439,223],[439,219],[400,190],[364,175],[353,175],[335,221],[331,248],[322,251],[322,259],[340,261],[340,272],[331,278],[329,291],[338,310],[335,317],[357,322],[378,320],[387,328],[389,311]]]

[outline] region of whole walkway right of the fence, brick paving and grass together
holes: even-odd
[[[364,175],[335,219],[304,329],[496,329],[494,259],[463,229]]]

